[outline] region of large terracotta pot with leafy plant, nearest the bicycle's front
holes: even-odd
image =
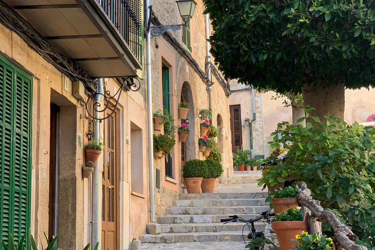
[[[289,208],[287,211],[276,213],[276,219],[272,222],[272,229],[275,231],[281,250],[290,250],[297,234],[307,231],[307,213],[299,207]]]

